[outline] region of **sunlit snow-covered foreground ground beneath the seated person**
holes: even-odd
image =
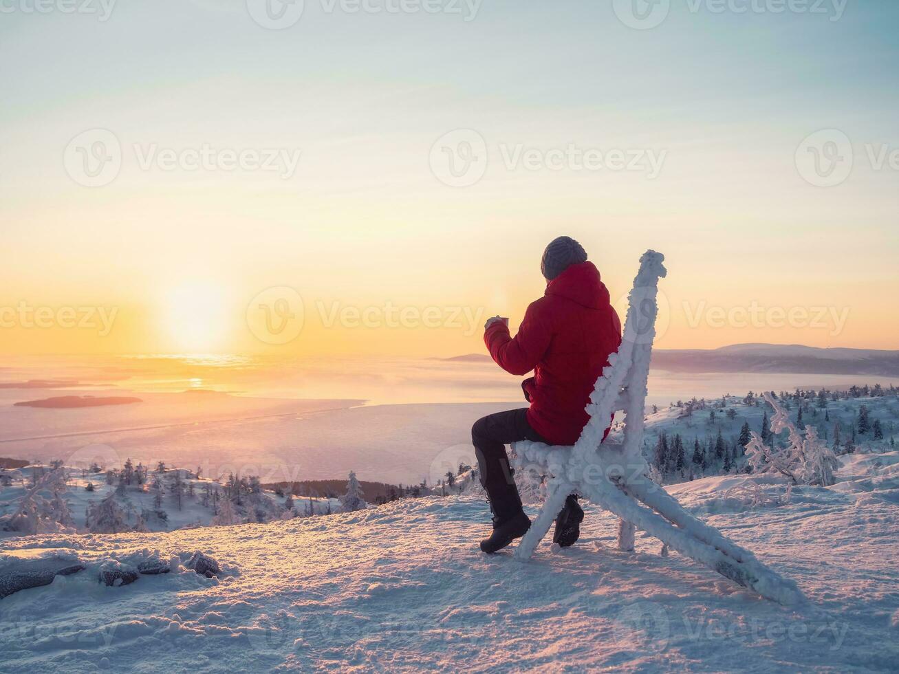
[[[841,457],[829,488],[768,475],[669,487],[691,511],[794,579],[797,609],[759,599],[658,542],[615,549],[587,506],[581,541],[530,563],[477,550],[476,497],[325,518],[115,536],[39,536],[88,570],[0,600],[2,669],[895,671],[899,454]],[[761,495],[761,498],[760,498]],[[96,582],[103,557],[211,554],[224,573]]]

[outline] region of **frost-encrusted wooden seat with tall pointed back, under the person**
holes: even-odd
[[[795,582],[782,578],[716,528],[694,518],[648,476],[649,466],[642,454],[646,380],[658,313],[658,281],[667,273],[663,261],[664,256],[654,251],[640,258],[628,296],[621,346],[596,380],[586,408],[590,421],[574,447],[530,441],[512,445],[515,466],[536,464],[547,472],[547,500],[515,555],[521,560],[530,558],[567,496],[576,492],[619,516],[619,549],[634,549],[638,527],[762,597],[797,604],[804,598]],[[603,442],[612,412],[619,411],[625,412],[622,442]]]

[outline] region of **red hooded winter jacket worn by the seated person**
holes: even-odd
[[[484,333],[496,364],[524,382],[528,422],[554,445],[574,445],[602,368],[621,343],[621,322],[592,262],[573,264],[532,302],[514,339],[502,321]]]

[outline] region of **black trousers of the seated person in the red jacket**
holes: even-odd
[[[505,446],[519,440],[546,442],[528,423],[528,408],[488,414],[471,427],[481,485],[490,497],[494,515],[504,519],[521,508],[521,496],[512,478]],[[548,444],[548,443],[547,443]]]

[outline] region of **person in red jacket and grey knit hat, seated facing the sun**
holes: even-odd
[[[493,535],[481,541],[485,553],[509,545],[530,528],[505,445],[525,439],[573,445],[589,419],[584,408],[596,379],[621,343],[609,290],[581,244],[559,236],[547,245],[540,270],[547,290],[530,304],[515,337],[499,316],[485,324],[484,341],[497,365],[512,375],[534,370],[521,383],[530,407],[490,414],[471,428],[481,484],[494,513]],[[583,510],[570,496],[556,518],[553,540],[573,545],[582,520]]]

